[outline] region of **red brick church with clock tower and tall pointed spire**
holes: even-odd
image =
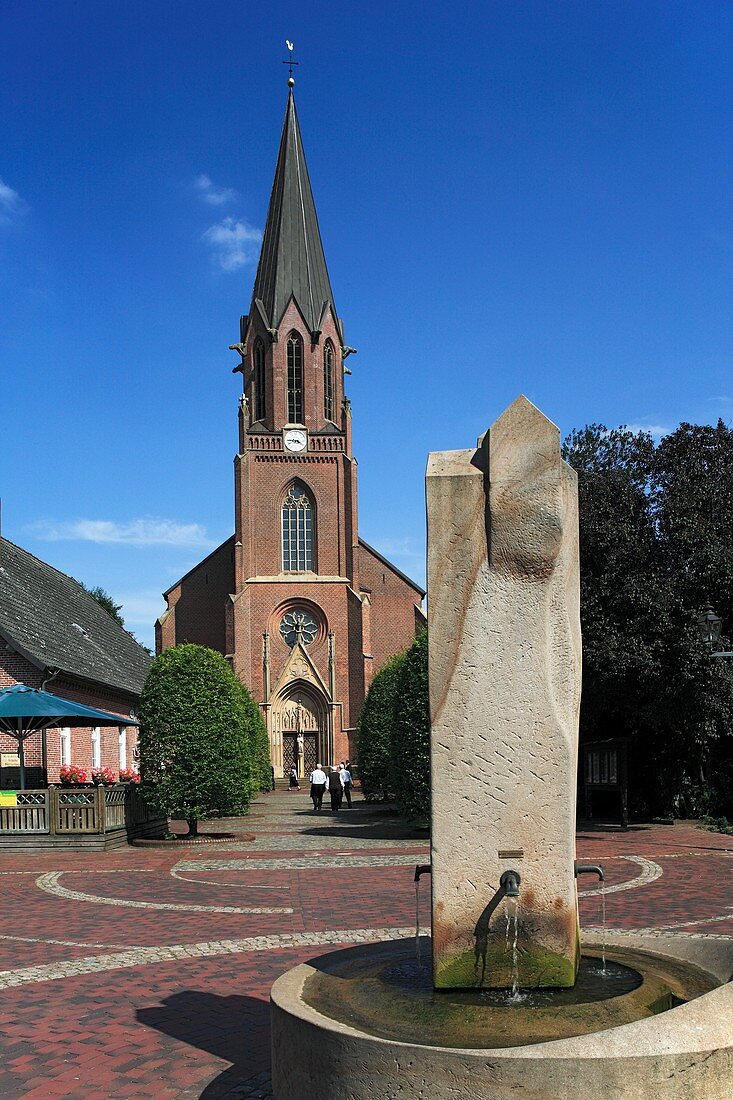
[[[425,625],[424,591],[359,538],[333,305],[291,90],[240,341],[234,535],[174,584],[158,652],[226,653],[260,702],[275,773],[353,758],[372,676]]]

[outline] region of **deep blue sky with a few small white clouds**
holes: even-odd
[[[233,529],[285,38],[362,536],[424,578],[427,452],[733,416],[733,6],[0,0],[3,534],[123,604]]]

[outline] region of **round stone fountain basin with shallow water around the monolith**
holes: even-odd
[[[583,950],[600,954],[600,945],[584,942]],[[533,994],[539,1000],[532,1009],[495,997],[484,1003],[478,991],[434,994],[429,985],[420,990],[411,977],[408,941],[330,953],[298,966],[272,988],[275,1098],[733,1094],[733,941],[610,934],[608,956],[639,970],[642,980],[628,978],[632,988],[622,983],[600,1001],[583,1000],[581,992],[575,1005]],[[568,996],[562,991],[561,998]],[[512,1020],[524,1035],[517,1036]]]

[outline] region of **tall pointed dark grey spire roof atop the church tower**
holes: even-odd
[[[276,329],[291,298],[295,299],[311,332],[320,330],[327,302],[336,318],[292,90],[287,97],[250,314],[259,308],[269,328]],[[336,323],[339,324],[338,318]]]

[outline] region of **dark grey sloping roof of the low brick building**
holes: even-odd
[[[78,581],[0,538],[0,637],[40,669],[139,695],[151,658]]]

